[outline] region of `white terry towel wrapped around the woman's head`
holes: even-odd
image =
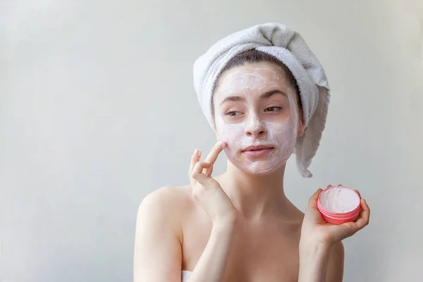
[[[240,30],[216,42],[194,64],[194,87],[202,111],[212,128],[212,94],[216,78],[235,55],[251,49],[270,54],[293,73],[300,89],[305,134],[295,144],[297,167],[303,177],[319,148],[329,106],[329,83],[316,56],[295,30],[266,23]]]

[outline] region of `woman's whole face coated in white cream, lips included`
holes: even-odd
[[[216,135],[226,142],[225,152],[229,161],[251,174],[264,175],[276,171],[286,164],[298,137],[295,93],[287,87],[283,75],[273,68],[235,70],[222,78],[216,89],[215,101],[220,103],[228,97],[240,97],[238,102],[232,99],[235,102],[231,106],[233,110],[229,109],[229,116],[225,111],[215,111]],[[262,109],[259,106],[262,94],[272,90],[285,93],[283,107],[288,109],[268,112],[267,109],[277,107]]]

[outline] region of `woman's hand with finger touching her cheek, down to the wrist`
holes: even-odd
[[[233,223],[238,218],[238,210],[231,199],[219,182],[212,178],[214,162],[224,147],[225,143],[217,142],[204,161],[200,161],[201,151],[196,149],[189,172],[192,196],[210,216],[214,226],[218,223]]]

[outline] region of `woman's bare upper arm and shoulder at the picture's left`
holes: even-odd
[[[134,282],[180,282],[182,249],[178,197],[161,188],[142,200],[137,214]]]

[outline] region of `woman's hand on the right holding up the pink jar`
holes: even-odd
[[[331,185],[328,187],[330,186]],[[304,221],[302,221],[300,243],[317,243],[331,246],[354,235],[357,231],[360,231],[364,226],[369,224],[370,209],[364,199],[360,200],[362,210],[356,221],[339,225],[326,222],[319,212],[319,209],[317,209],[317,199],[321,191],[321,189],[317,190],[314,195],[310,197]],[[360,195],[360,192],[357,190],[355,190],[355,192]]]

